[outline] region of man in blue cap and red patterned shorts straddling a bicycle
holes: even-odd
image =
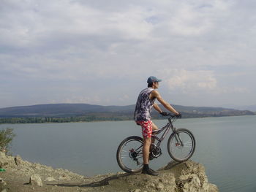
[[[148,88],[143,89],[138,96],[138,100],[135,108],[135,122],[141,126],[143,134],[143,174],[150,174],[157,176],[158,173],[148,166],[148,156],[151,147],[151,134],[153,130],[157,130],[157,126],[151,121],[151,109],[154,107],[157,112],[161,115],[165,115],[166,112],[162,112],[160,107],[154,103],[157,99],[167,110],[173,112],[176,115],[180,115],[170,104],[168,104],[160,96],[157,88],[159,88],[159,82],[162,80],[157,79],[157,77],[148,77]]]

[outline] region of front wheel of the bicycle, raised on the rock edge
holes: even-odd
[[[186,128],[178,128],[170,135],[167,150],[174,161],[187,161],[195,152],[195,137]]]

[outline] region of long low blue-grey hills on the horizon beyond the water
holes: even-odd
[[[187,107],[174,105],[183,118],[219,117],[233,115],[255,115],[249,110],[233,110],[222,107]],[[162,109],[164,109],[162,107]],[[31,117],[125,117],[132,119],[135,105],[127,106],[102,106],[93,104],[38,104],[22,107],[7,107],[0,109],[0,118],[31,118]],[[153,112],[155,118],[159,118],[157,112]]]

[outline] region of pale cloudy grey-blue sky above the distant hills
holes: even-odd
[[[0,108],[256,104],[256,1],[0,0]]]

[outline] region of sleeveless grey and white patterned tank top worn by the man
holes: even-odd
[[[154,88],[146,88],[143,89],[143,91],[140,92],[140,95],[138,96],[138,100],[136,103],[135,113],[134,113],[134,119],[135,121],[138,120],[150,120],[151,115],[150,112],[152,110],[154,101],[156,99],[149,99],[150,93],[154,91]]]

